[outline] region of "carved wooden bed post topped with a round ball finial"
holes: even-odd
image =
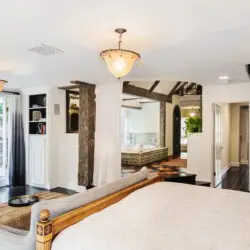
[[[45,209],[40,212],[40,221],[36,227],[36,250],[50,250],[52,242],[52,222],[50,212]]]

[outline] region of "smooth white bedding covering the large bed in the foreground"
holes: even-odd
[[[250,194],[156,183],[64,230],[52,250],[249,250]]]

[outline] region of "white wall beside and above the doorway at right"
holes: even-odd
[[[228,84],[203,87],[203,133],[188,141],[188,169],[202,169],[197,179],[213,181],[212,138],[213,103],[239,103],[250,101],[250,84]],[[191,172],[190,171],[190,172]],[[197,172],[198,173],[198,172]]]

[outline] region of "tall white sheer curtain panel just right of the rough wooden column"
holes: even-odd
[[[120,82],[97,85],[94,185],[121,178]]]

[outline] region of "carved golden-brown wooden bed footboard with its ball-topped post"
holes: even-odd
[[[93,201],[87,205],[72,210],[66,214],[49,219],[50,212],[43,210],[40,213],[40,221],[37,223],[36,230],[36,250],[51,250],[53,239],[67,227],[74,225],[88,216],[101,211],[102,209],[117,203],[137,189],[162,181],[161,176],[145,179],[118,192]]]

